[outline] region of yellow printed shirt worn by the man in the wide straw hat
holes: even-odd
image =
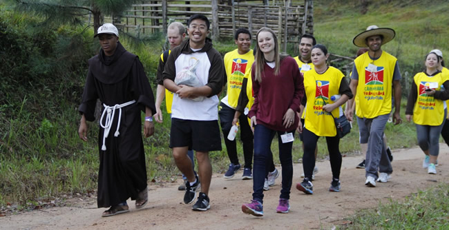
[[[354,60],[359,85],[357,85],[356,100],[359,100],[359,117],[374,118],[390,114],[392,109],[392,82],[394,65],[397,59],[383,51],[381,57],[372,60],[368,52]],[[363,115],[363,116],[362,116]]]

